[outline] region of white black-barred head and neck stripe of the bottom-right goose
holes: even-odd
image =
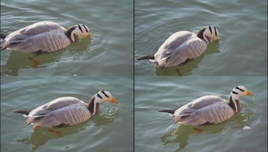
[[[237,111],[237,105],[236,105],[235,100],[238,100],[239,97],[243,96],[243,95],[250,95],[251,96],[251,95],[253,95],[253,93],[248,91],[244,86],[235,86],[230,93],[230,99],[233,102],[236,111]]]

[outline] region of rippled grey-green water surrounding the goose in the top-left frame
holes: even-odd
[[[133,75],[132,0],[1,0],[1,33],[44,20],[85,24],[94,36],[37,56],[38,68],[31,53],[1,51],[1,75]]]

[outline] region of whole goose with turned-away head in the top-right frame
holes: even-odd
[[[212,25],[199,29],[197,33],[178,31],[169,36],[156,53],[140,56],[137,60],[149,59],[161,69],[186,64],[204,53],[210,41],[218,39],[219,32]]]

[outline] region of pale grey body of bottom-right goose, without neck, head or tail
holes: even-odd
[[[233,114],[227,101],[218,96],[207,95],[177,109],[173,122],[189,125],[212,124],[227,120]]]

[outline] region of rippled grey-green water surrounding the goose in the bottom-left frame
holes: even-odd
[[[1,76],[1,151],[133,151],[133,78],[94,76]],[[121,85],[124,84],[124,85]],[[32,109],[61,96],[88,101],[99,89],[112,92],[118,104],[105,103],[88,121],[32,131],[14,109]]]

